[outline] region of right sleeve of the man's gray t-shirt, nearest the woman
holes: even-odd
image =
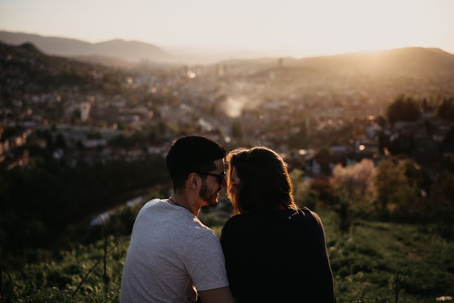
[[[184,265],[197,291],[229,285],[221,243],[213,231],[203,232],[191,241]]]

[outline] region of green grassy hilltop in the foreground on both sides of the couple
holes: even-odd
[[[420,225],[366,221],[357,221],[349,234],[341,235],[334,213],[318,214],[325,227],[338,302],[394,302],[397,275],[406,275],[412,269],[401,285],[399,302],[436,302],[437,297],[454,295],[454,242]],[[202,219],[220,235],[225,220]],[[4,273],[5,301],[118,302],[128,243],[129,237],[109,237],[107,296],[104,241],[99,241],[63,251],[55,261]],[[96,262],[98,265],[72,295]]]

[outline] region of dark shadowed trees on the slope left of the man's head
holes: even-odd
[[[18,268],[46,257],[40,254],[71,247],[84,232],[78,230],[82,221],[88,224],[90,216],[123,203],[130,198],[127,193],[167,182],[167,174],[161,156],[76,168],[38,158],[27,167],[1,169],[4,268]]]

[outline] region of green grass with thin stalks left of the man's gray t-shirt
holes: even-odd
[[[4,275],[6,302],[118,302],[121,273],[129,237],[109,237],[107,261],[109,291],[106,295],[103,262],[82,286],[77,286],[92,266],[104,256],[104,241],[60,252],[58,260],[26,265],[20,272]],[[75,291],[75,292],[74,292]],[[74,295],[72,295],[74,292]]]

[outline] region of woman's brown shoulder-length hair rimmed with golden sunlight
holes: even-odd
[[[272,149],[264,146],[237,148],[227,155],[227,193],[234,214],[255,210],[294,209],[292,182],[287,164]],[[239,184],[232,188],[232,170],[236,169]]]

